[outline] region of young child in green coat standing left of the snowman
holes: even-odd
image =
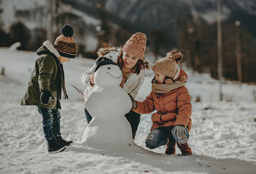
[[[64,25],[61,35],[55,40],[54,46],[50,41],[45,41],[36,54],[40,57],[36,60],[34,70],[28,82],[28,88],[24,93],[21,105],[36,105],[43,117],[43,131],[47,142],[48,153],[58,153],[73,144],[73,141],[65,141],[60,133],[61,90],[63,98],[68,99],[65,88],[65,78],[62,63],[75,58],[77,54],[76,42],[73,36],[73,28]]]

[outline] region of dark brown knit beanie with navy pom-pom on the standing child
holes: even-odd
[[[74,30],[70,25],[64,25],[61,28],[61,35],[59,35],[54,43],[59,54],[66,58],[75,58],[77,54],[76,42],[72,37]]]

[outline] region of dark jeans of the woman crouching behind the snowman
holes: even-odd
[[[92,120],[92,116],[89,114],[86,108],[84,108],[84,111],[85,111],[85,117],[86,117],[87,123],[89,124],[89,122],[91,122]],[[133,110],[130,110],[130,112],[128,112],[124,116],[126,117],[126,119],[131,125],[132,134],[135,134],[140,124],[140,114],[134,112]]]

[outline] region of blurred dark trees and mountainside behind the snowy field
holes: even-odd
[[[70,24],[82,57],[96,59],[99,47],[123,46],[132,34],[143,32],[147,35],[146,54],[152,62],[177,49],[183,54],[183,65],[218,78],[216,0],[24,0],[22,3],[0,0],[1,47],[21,42],[19,50],[36,51],[47,39],[50,10],[51,42],[64,24]],[[240,52],[242,77],[239,78],[242,82],[256,82],[256,2],[222,0],[222,13],[223,76],[238,80]],[[235,25],[236,21],[240,25]]]

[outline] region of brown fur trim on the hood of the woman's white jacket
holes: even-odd
[[[122,50],[123,50],[122,47],[116,47],[116,46],[101,47],[97,51],[97,55],[98,55],[98,58],[99,58],[99,57],[105,56],[106,54],[109,54],[111,51],[120,52]],[[144,63],[145,63],[146,69],[151,70],[152,63],[150,62],[150,60],[147,59],[147,58],[146,59],[144,58]]]

